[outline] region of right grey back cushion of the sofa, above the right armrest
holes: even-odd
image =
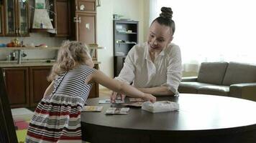
[[[256,65],[230,62],[223,85],[256,82]]]

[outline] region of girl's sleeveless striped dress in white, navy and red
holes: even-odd
[[[96,69],[82,65],[60,74],[29,123],[26,142],[82,142],[81,110],[91,90],[86,78]]]

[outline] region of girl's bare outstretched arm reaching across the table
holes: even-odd
[[[150,102],[155,102],[156,98],[152,96],[152,94],[146,94],[140,92],[140,90],[130,86],[129,84],[125,84],[123,82],[119,82],[117,80],[111,79],[106,76],[101,71],[95,71],[91,74],[88,83],[97,82],[104,87],[113,90],[114,92],[118,92],[121,94],[127,94],[130,97],[142,98],[145,100],[150,100]]]

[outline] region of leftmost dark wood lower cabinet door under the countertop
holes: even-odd
[[[29,69],[4,68],[4,80],[11,107],[29,107]]]

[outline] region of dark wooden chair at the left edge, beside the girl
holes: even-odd
[[[12,112],[6,94],[3,70],[0,68],[0,143],[17,143]]]

